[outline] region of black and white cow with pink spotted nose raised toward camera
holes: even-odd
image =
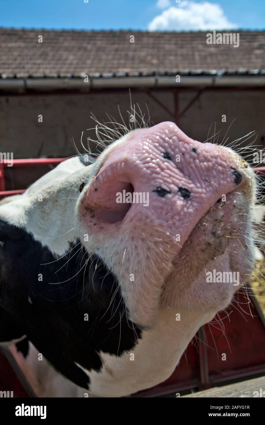
[[[164,381],[251,274],[255,192],[240,156],[172,122],[64,161],[0,205],[0,341],[24,338],[45,396]]]

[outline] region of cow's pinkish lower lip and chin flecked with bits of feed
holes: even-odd
[[[199,220],[165,279],[162,308],[173,308],[176,314],[207,313],[207,322],[231,303],[253,269],[250,210],[244,193],[231,193],[226,203],[215,204]]]

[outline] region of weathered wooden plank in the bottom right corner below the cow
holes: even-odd
[[[197,393],[188,394],[182,397],[254,397],[254,391],[259,391],[263,393],[263,397],[265,398],[265,376],[260,378],[254,378],[248,381],[237,382],[235,384],[225,385],[223,387],[214,387],[209,390],[198,391]],[[254,393],[254,394],[253,394]],[[256,395],[257,397],[257,395]]]

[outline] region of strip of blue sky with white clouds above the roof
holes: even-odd
[[[150,31],[265,28],[265,0],[84,1],[0,0],[0,26]]]

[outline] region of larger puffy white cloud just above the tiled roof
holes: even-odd
[[[148,24],[149,31],[195,31],[237,28],[217,4],[184,0],[171,6]]]

